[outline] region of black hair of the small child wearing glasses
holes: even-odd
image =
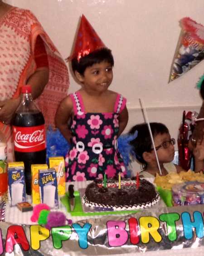
[[[168,128],[162,123],[150,123],[151,132],[153,138],[158,134],[169,133]],[[135,131],[138,132],[136,139],[130,142],[133,146],[136,159],[143,164],[144,169],[146,169],[147,163],[144,160],[142,154],[144,152],[151,152],[152,142],[151,136],[146,123],[135,125],[131,128],[129,133],[134,134]]]

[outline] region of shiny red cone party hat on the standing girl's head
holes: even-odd
[[[99,50],[104,47],[106,47],[106,45],[104,45],[86,17],[82,15],[75,45],[73,47],[73,53],[68,60],[77,58],[79,61],[80,58],[90,54],[92,51]]]

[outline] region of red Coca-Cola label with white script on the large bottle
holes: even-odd
[[[14,150],[19,152],[36,152],[46,148],[45,126],[13,126]]]

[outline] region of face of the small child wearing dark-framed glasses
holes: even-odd
[[[160,163],[169,163],[174,160],[175,149],[170,140],[169,133],[157,134],[154,138],[155,148],[157,149],[156,153]]]

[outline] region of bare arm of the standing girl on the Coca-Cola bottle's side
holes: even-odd
[[[72,135],[71,131],[68,128],[68,120],[70,119],[72,112],[72,99],[70,98],[70,96],[67,96],[61,101],[58,107],[55,115],[55,125],[69,143],[71,143]]]

